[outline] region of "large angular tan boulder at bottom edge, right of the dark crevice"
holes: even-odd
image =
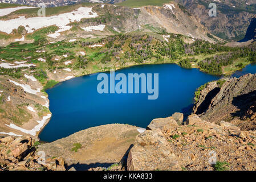
[[[137,135],[127,159],[128,171],[181,170],[176,155],[160,129]]]

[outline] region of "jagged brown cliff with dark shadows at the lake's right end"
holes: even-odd
[[[221,88],[211,83],[201,91],[201,96],[194,106],[193,113],[202,119],[220,123],[221,120],[235,122],[242,129],[256,129],[256,75],[245,75],[228,79]]]

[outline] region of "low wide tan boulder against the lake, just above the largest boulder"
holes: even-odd
[[[162,129],[164,126],[178,126],[173,117],[153,119],[147,129],[156,130]]]

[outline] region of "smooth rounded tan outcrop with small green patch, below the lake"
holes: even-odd
[[[69,137],[38,146],[48,158],[62,157],[68,169],[88,170],[108,168],[114,163],[123,163],[135,137],[138,127],[112,124],[79,131]]]

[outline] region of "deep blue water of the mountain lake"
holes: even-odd
[[[237,76],[245,72],[255,73],[256,66],[246,67]],[[140,65],[115,73],[159,73],[159,98],[148,100],[148,94],[99,94],[99,73],[72,78],[46,91],[52,118],[40,133],[40,139],[51,142],[108,123],[147,127],[154,118],[184,112],[192,105],[194,92],[199,86],[219,78],[176,64]]]

